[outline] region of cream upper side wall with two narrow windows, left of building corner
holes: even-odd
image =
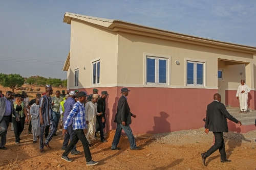
[[[117,81],[117,33],[71,20],[69,88],[108,86]],[[100,83],[92,84],[92,62],[100,60]],[[86,67],[84,70],[83,67]],[[75,71],[79,68],[79,86]]]

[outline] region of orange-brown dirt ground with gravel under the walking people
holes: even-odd
[[[177,131],[162,134],[136,135],[140,151],[130,150],[129,141],[122,136],[118,147],[120,151],[110,150],[114,131],[107,135],[108,142],[97,138],[91,149],[92,158],[98,165],[88,167],[84,158],[82,144],[78,141],[77,155],[69,155],[72,162],[60,159],[63,142],[61,131],[50,141],[51,150],[39,153],[39,142],[32,143],[28,126],[22,133],[19,144],[15,144],[13,131],[8,130],[7,150],[0,150],[0,169],[255,169],[256,168],[256,130],[246,134],[225,133],[227,158],[230,163],[221,163],[220,154],[215,152],[206,159],[204,167],[200,153],[210,148],[212,133],[198,130]]]

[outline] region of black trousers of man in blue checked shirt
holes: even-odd
[[[65,152],[62,154],[62,156],[68,156],[69,153],[73,150],[75,144],[80,140],[82,142],[83,152],[84,156],[86,157],[86,161],[89,162],[92,160],[92,155],[89,149],[89,142],[86,138],[86,135],[84,134],[82,129],[76,129],[74,130],[74,135],[69,143],[68,147],[66,148]]]

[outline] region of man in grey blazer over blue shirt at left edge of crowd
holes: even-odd
[[[12,102],[12,92],[7,91],[4,98],[0,98],[0,149],[7,150],[6,144],[6,134],[9,127],[9,123],[12,122],[12,114],[15,116],[16,120],[19,121],[18,113],[15,111]]]

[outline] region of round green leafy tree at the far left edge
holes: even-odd
[[[12,92],[14,92],[14,89],[16,87],[20,87],[24,85],[24,78],[18,74],[0,74],[0,84],[3,87],[10,87],[12,89]]]

